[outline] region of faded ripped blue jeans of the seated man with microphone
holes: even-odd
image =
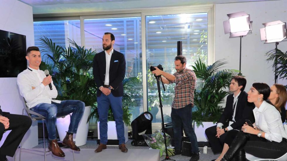
[[[61,101],[61,103],[52,102],[52,104],[39,103],[35,107],[30,108],[30,110],[37,112],[46,118],[45,121],[49,140],[56,139],[57,117],[66,116],[70,113],[73,114],[71,116],[68,133],[76,133],[79,122],[83,116],[84,109],[85,103],[78,100],[65,100]]]

